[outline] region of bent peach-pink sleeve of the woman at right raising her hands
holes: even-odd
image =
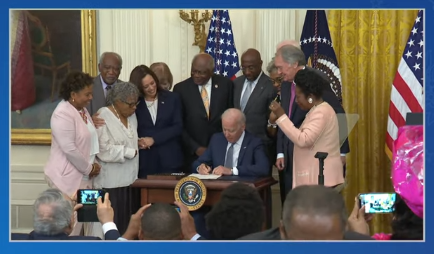
[[[294,126],[286,114],[280,116],[276,123],[282,132],[293,141],[294,145],[300,148],[309,148],[315,144],[315,141],[321,135],[327,125],[327,119],[322,110],[315,110],[306,116],[300,129]]]

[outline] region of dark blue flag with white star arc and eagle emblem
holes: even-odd
[[[300,45],[308,65],[327,74],[331,81],[330,87],[342,103],[341,71],[333,49],[325,10],[306,12]]]

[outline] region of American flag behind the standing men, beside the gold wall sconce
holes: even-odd
[[[213,10],[205,52],[214,58],[214,73],[234,79],[240,64],[227,10]]]

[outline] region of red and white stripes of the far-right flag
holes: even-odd
[[[386,153],[391,158],[393,141],[397,138],[398,128],[405,125],[407,113],[421,113],[424,111],[423,87],[413,72],[401,58],[393,80],[389,106],[389,117],[386,134]]]

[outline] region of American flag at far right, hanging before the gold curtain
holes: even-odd
[[[392,84],[386,134],[386,154],[392,158],[398,128],[407,113],[424,111],[424,13],[419,10]]]

